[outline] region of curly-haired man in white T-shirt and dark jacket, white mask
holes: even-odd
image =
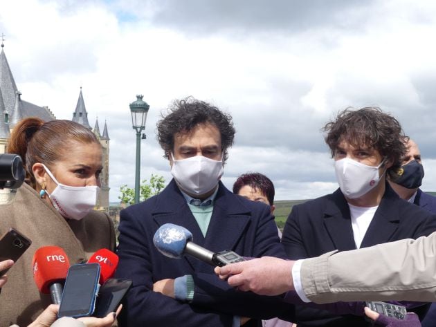
[[[436,230],[435,215],[401,200],[386,183],[406,155],[395,118],[378,108],[345,109],[324,130],[339,189],[293,206],[282,236],[290,259],[417,239]],[[422,319],[427,309],[412,310]],[[296,317],[310,326],[368,326],[361,317],[312,308],[296,308]]]

